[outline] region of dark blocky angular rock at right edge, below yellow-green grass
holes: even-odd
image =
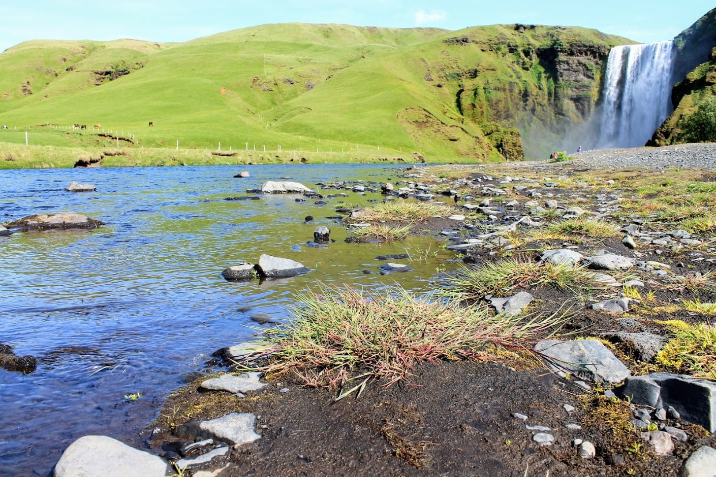
[[[619,395],[634,404],[674,410],[686,419],[716,431],[716,382],[672,373],[652,373],[624,380]]]

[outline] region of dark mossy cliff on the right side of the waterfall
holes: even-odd
[[[672,104],[674,112],[654,132],[648,145],[666,146],[697,138],[687,137],[684,121],[700,104],[716,97],[716,9],[702,16],[695,24],[674,39]],[[706,139],[706,138],[704,138]]]

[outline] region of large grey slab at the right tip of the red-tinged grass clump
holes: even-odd
[[[619,383],[631,374],[598,340],[542,340],[535,345],[535,350],[556,370],[566,370],[582,379]]]

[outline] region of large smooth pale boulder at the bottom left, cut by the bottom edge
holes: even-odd
[[[54,477],[164,477],[167,463],[107,436],[84,436],[62,453]]]

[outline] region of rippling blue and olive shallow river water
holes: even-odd
[[[140,434],[169,393],[207,373],[214,350],[256,333],[261,325],[252,315],[285,319],[296,293],[321,283],[427,290],[435,267],[453,256],[434,237],[345,243],[347,231],[329,217],[374,194],[348,192],[323,206],[296,202],[296,195],[223,200],[286,176],[314,190],[316,182],[395,180],[396,167],[243,169],[252,177],[233,178],[242,170],[236,166],[0,171],[0,222],[48,212],[107,222],[97,230],[0,237],[0,343],[39,359],[28,375],[0,369],[0,475],[47,476],[64,448],[87,434],[142,446]],[[72,180],[97,192],[64,192]],[[306,215],[315,221],[304,223]],[[317,225],[337,241],[306,246]],[[422,257],[409,263],[415,272],[377,274],[382,262],[374,257],[406,251]],[[256,263],[262,253],[298,260],[311,272],[261,283],[221,277],[225,267]],[[130,393],[142,396],[132,402],[124,398]]]

